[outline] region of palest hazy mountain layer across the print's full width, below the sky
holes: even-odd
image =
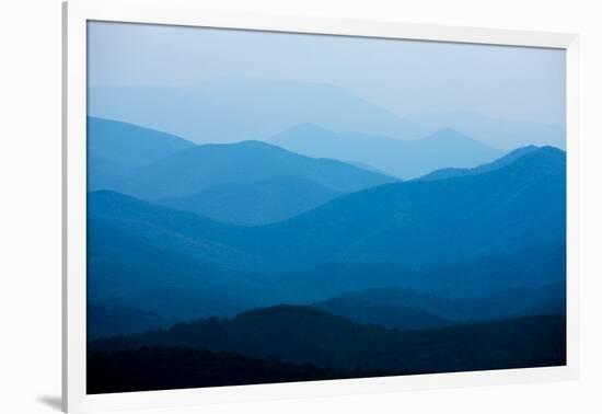
[[[341,88],[315,82],[227,78],[185,88],[93,87],[88,97],[90,116],[142,125],[196,143],[269,140],[299,124],[400,140],[451,128],[502,150],[526,145],[563,149],[565,139],[564,125],[466,111],[400,115]]]

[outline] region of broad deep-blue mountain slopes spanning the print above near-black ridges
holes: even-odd
[[[372,288],[468,298],[562,283],[564,157],[542,148],[478,175],[382,185],[257,227],[91,193],[90,300],[186,320]]]

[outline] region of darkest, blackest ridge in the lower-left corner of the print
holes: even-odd
[[[174,390],[391,376],[381,370],[343,370],[294,365],[232,353],[142,347],[88,360],[88,393]]]

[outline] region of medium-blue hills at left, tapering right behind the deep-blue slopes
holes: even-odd
[[[88,131],[89,192],[118,191],[235,225],[280,221],[339,194],[396,181],[261,142],[196,146],[95,117]]]

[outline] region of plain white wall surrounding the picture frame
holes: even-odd
[[[114,0],[118,1],[118,0]],[[169,0],[165,0],[169,1]],[[206,413],[602,412],[602,25],[592,0],[198,0],[213,9],[581,34],[581,379],[205,406]],[[0,412],[60,395],[60,1],[0,5]],[[170,410],[194,413],[197,410]]]

